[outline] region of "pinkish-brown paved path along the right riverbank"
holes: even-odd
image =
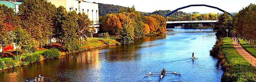
[[[235,38],[236,32],[232,32],[231,37]],[[232,44],[234,45],[234,48],[236,48],[237,52],[256,68],[256,58],[248,53],[240,44],[237,44],[237,42],[232,42]]]

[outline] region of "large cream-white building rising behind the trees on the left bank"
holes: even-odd
[[[76,11],[76,13],[84,12],[88,15],[89,19],[93,21],[94,33],[99,31],[99,5],[97,3],[89,3],[83,0],[46,0],[51,2],[56,7],[63,6],[66,10]]]

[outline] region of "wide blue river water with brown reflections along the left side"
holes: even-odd
[[[172,29],[132,45],[102,47],[0,71],[0,82],[25,82],[39,73],[53,82],[220,82],[223,71],[209,55],[212,29]],[[192,52],[198,58],[191,60]],[[149,72],[174,71],[145,77]]]

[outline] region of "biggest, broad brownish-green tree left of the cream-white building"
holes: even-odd
[[[56,13],[55,5],[45,0],[24,0],[19,5],[22,27],[44,46],[50,42],[53,36],[53,28]]]

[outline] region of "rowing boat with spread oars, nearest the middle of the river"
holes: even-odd
[[[153,74],[153,73],[157,73],[157,74]],[[153,76],[153,75],[159,75],[159,74],[160,74],[160,79],[162,79],[165,74],[175,74],[175,75],[179,75],[180,73],[176,73],[176,72],[173,72],[173,71],[165,71],[165,69],[163,68],[162,71],[158,71],[158,72],[149,72],[149,73],[146,75],[146,77]]]

